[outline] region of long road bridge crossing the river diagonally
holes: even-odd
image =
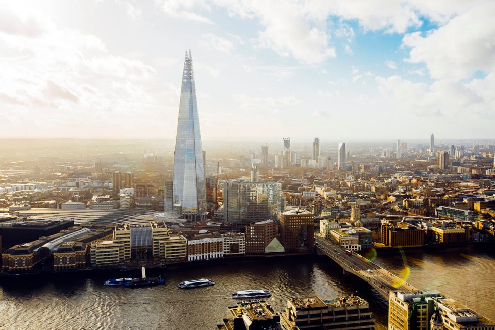
[[[417,291],[418,289],[402,278],[378,266],[365,257],[333,244],[320,234],[315,234],[315,245],[320,254],[325,254],[342,267],[345,273],[351,273],[375,288],[385,299],[389,291]]]

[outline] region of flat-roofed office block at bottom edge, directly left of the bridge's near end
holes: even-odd
[[[320,297],[291,298],[281,314],[284,329],[374,329],[369,304],[358,296],[324,301]]]

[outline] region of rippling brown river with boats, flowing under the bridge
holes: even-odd
[[[411,269],[407,281],[436,289],[493,320],[495,255],[472,247],[445,251],[378,253],[375,263],[397,273]],[[140,272],[125,275],[139,276]],[[159,272],[148,271],[148,275]],[[167,284],[150,288],[104,287],[119,271],[2,279],[1,329],[214,329],[235,305],[230,296],[245,289],[267,289],[282,311],[290,297],[323,299],[357,294],[370,303],[377,329],[387,328],[387,301],[364,281],[343,275],[325,256],[221,260],[167,269]],[[215,286],[181,290],[179,282],[210,278]]]

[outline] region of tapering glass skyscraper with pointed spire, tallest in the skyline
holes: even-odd
[[[173,182],[172,208],[190,220],[205,219],[205,169],[191,51],[186,51],[182,74]]]

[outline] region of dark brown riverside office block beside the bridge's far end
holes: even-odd
[[[314,214],[305,209],[285,211],[280,216],[282,245],[287,253],[309,253],[314,246]]]

